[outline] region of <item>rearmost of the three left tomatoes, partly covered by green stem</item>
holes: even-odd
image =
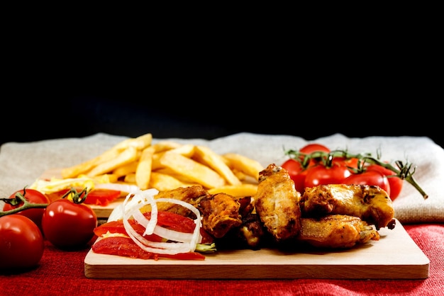
[[[50,199],[43,193],[41,193],[38,190],[34,189],[22,189],[18,190],[15,193],[11,194],[9,198],[16,198],[16,193],[21,193],[23,197],[28,200],[30,203],[50,203]],[[17,207],[21,207],[23,205],[23,202],[19,203],[18,205],[10,205],[9,203],[5,203],[3,210],[13,210]],[[26,209],[20,212],[17,212],[16,214],[23,215],[28,217],[30,220],[33,220],[35,224],[37,224],[40,231],[42,230],[42,216],[43,212],[45,212],[45,208],[33,208],[33,209]]]

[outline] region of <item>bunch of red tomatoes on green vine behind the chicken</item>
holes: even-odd
[[[290,158],[281,165],[294,181],[299,193],[306,187],[327,184],[358,184],[379,186],[392,200],[401,193],[404,180],[411,183],[426,199],[428,195],[416,183],[412,164],[396,161],[395,165],[380,161],[372,154],[350,154],[331,150],[323,144],[311,143],[285,152]]]

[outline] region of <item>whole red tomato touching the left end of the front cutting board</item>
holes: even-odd
[[[61,249],[87,245],[96,227],[97,216],[91,207],[64,198],[52,201],[42,217],[45,238]]]

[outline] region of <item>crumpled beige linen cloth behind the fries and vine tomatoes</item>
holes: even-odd
[[[153,143],[172,140],[182,144],[205,145],[214,152],[243,154],[268,164],[282,164],[288,159],[287,149],[299,149],[310,142],[325,144],[330,149],[348,149],[351,153],[370,152],[376,156],[377,149],[384,161],[410,161],[416,166],[414,176],[428,199],[409,183],[394,200],[395,217],[404,224],[444,222],[444,149],[428,137],[364,137],[349,138],[341,134],[304,140],[289,135],[258,135],[247,132],[202,139],[156,139]],[[126,137],[98,133],[82,138],[64,138],[38,142],[9,142],[0,147],[0,193],[7,198],[14,191],[29,186],[49,169],[79,164],[93,158],[125,140]]]

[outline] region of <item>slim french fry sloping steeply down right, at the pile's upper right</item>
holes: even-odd
[[[206,164],[214,171],[218,172],[223,178],[226,179],[228,184],[231,185],[240,185],[241,182],[238,177],[235,176],[233,171],[225,164],[222,156],[213,152],[208,147],[204,146],[196,146],[194,147],[194,156],[193,159],[199,161],[202,164]]]

